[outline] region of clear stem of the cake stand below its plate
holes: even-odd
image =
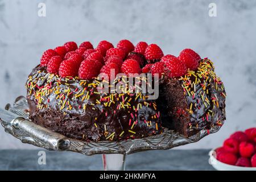
[[[102,154],[104,171],[125,171],[125,154]]]

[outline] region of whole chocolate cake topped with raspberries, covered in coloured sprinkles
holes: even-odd
[[[114,79],[98,76],[110,76],[110,69]],[[150,84],[146,77],[132,87],[125,81],[142,72],[160,77],[156,100],[140,91],[143,82]],[[111,92],[103,90],[106,83],[112,83]],[[118,84],[121,93],[113,90]],[[143,138],[164,127],[189,137],[225,120],[224,85],[212,61],[191,49],[175,57],[144,42],[134,47],[121,40],[114,48],[102,41],[95,49],[89,42],[79,48],[69,42],[44,52],[26,88],[32,122],[80,140]]]

